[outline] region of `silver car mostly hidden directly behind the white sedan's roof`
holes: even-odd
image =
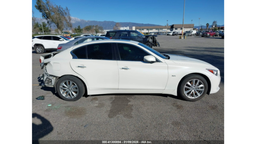
[[[106,38],[106,37],[80,37],[73,41],[67,42],[65,44],[60,44],[58,46],[57,51],[63,51],[63,50],[69,49],[73,46],[79,45],[80,43],[103,40],[103,39],[109,39],[109,38]]]

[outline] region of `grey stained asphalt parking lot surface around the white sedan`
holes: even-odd
[[[38,86],[32,50],[32,140],[225,140],[225,39],[159,35],[161,53],[206,61],[221,71],[221,90],[198,102],[172,95],[93,95],[77,102]],[[45,100],[36,100],[38,96]],[[52,105],[52,106],[48,106]]]

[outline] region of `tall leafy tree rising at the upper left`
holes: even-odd
[[[46,3],[44,3],[43,0],[37,0],[35,8],[37,8],[37,10],[42,13],[43,19],[48,20],[47,23],[49,25],[54,23],[57,26],[57,29],[60,31],[64,29],[64,8],[57,6],[50,0],[46,0]]]

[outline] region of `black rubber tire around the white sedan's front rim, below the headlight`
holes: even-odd
[[[184,92],[184,88],[186,86],[186,84],[193,80],[193,79],[197,79],[200,80],[201,82],[203,82],[204,84],[204,92],[201,96],[199,96],[198,98],[192,99],[192,98],[188,98],[185,95]],[[182,79],[182,82],[180,83],[179,87],[178,87],[178,95],[181,96],[185,101],[189,101],[189,102],[196,102],[199,101],[200,99],[204,98],[204,96],[206,95],[208,91],[208,83],[206,81],[206,79],[204,79],[204,77],[200,76],[200,75],[187,75]]]

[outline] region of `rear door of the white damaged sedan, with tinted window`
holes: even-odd
[[[72,51],[72,69],[89,84],[90,90],[118,90],[119,75],[112,43],[82,46]]]

